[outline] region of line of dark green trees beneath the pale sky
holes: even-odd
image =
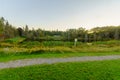
[[[4,39],[25,37],[28,41],[74,41],[81,42],[120,40],[120,26],[95,27],[91,30],[85,28],[67,29],[66,31],[47,31],[42,29],[16,28],[3,17],[0,18],[0,37]]]

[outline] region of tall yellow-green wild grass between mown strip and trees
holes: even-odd
[[[120,52],[120,41],[98,41],[92,43],[82,43],[77,42],[77,46],[74,46],[74,42],[62,42],[62,41],[27,41],[19,43],[24,38],[10,39],[15,41],[11,42],[1,42],[0,52],[7,54],[41,54],[46,52],[55,53],[104,53],[104,52]],[[17,43],[16,43],[17,42]],[[0,54],[1,54],[0,53]]]

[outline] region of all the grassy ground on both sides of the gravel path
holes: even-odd
[[[31,58],[66,58],[120,55],[120,41],[74,42],[24,41],[0,43],[0,62]],[[0,80],[119,80],[120,59],[42,64],[0,70]]]

